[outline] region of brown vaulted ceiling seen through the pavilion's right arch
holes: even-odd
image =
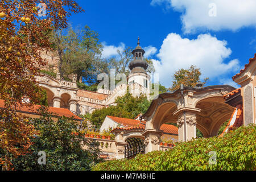
[[[225,104],[223,97],[207,97],[196,102],[196,108],[200,112],[196,114],[196,125],[203,130],[204,137],[214,137],[218,129],[230,118],[234,108]],[[205,130],[207,132],[205,132]]]

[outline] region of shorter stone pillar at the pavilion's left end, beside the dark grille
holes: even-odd
[[[163,135],[163,130],[147,129],[143,131],[142,135],[145,137],[145,154],[151,151],[159,150],[160,137]]]

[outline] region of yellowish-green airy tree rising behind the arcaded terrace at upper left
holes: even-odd
[[[60,58],[61,77],[75,73],[77,80],[84,77],[88,82],[96,82],[97,74],[103,68],[100,59],[102,45],[97,32],[90,30],[87,25],[82,30],[69,26],[67,31],[52,32],[51,42]]]

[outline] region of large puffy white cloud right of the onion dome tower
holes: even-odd
[[[188,69],[191,65],[201,68],[201,78],[209,77],[210,80],[236,73],[241,67],[237,59],[224,63],[232,53],[226,46],[225,40],[218,40],[209,34],[200,34],[192,40],[183,39],[178,34],[169,34],[156,55],[160,61],[153,60],[159,81],[170,87],[174,72],[181,68]]]

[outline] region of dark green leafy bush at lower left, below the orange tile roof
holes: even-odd
[[[13,158],[12,163],[15,170],[90,170],[94,164],[102,161],[97,148],[82,149],[81,144],[89,144],[89,141],[77,129],[77,121],[66,117],[54,121],[52,114],[43,107],[40,109],[40,113],[42,113],[42,117],[31,121],[39,134],[31,137],[34,144],[28,148],[29,154],[19,156],[17,159]],[[46,152],[45,165],[38,163],[39,151]]]

